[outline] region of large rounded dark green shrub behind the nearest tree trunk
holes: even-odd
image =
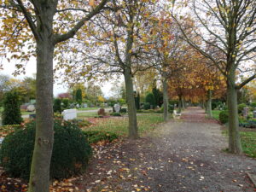
[[[0,160],[3,169],[11,177],[29,178],[32,151],[35,140],[35,122],[25,129],[9,134],[2,143]],[[84,171],[91,148],[79,127],[70,122],[55,120],[55,143],[53,146],[49,175],[51,178],[67,178]]]

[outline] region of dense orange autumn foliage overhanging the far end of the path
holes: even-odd
[[[206,101],[207,90],[215,97],[224,96],[225,79],[218,69],[193,49],[187,56],[183,69],[170,78],[170,96],[183,96],[192,102]]]

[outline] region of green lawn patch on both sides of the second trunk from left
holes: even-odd
[[[146,134],[148,131],[153,131],[156,124],[163,122],[162,114],[146,113],[137,116],[138,131],[140,135]],[[89,128],[84,128],[84,131],[109,131],[119,136],[128,135],[128,118],[108,118],[99,120],[96,125]]]

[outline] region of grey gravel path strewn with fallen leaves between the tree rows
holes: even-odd
[[[228,140],[221,133],[221,125],[205,116],[201,108],[188,108],[180,119],[158,126],[154,134],[105,148],[102,159],[94,161],[98,172],[84,177],[80,189],[256,191],[247,177],[247,172],[256,173],[256,160],[224,152]]]

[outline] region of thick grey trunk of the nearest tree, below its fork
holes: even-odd
[[[37,118],[30,192],[49,191],[49,166],[54,143],[53,55],[54,45],[47,38],[37,42]]]

